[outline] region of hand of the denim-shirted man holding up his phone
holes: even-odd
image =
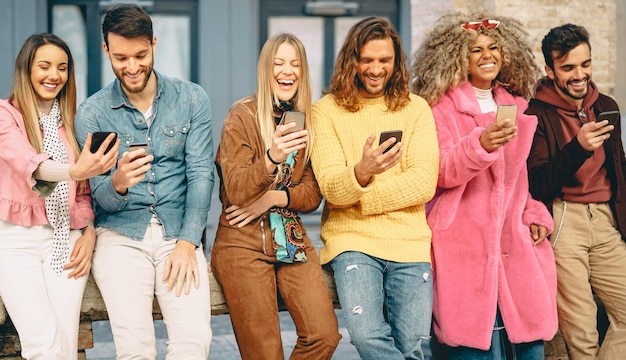
[[[111,176],[113,188],[118,194],[126,194],[128,188],[137,185],[152,168],[153,155],[146,155],[144,149],[125,152],[117,161],[117,170]]]

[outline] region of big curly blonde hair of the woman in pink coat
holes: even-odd
[[[466,30],[466,22],[498,20],[500,25],[487,30]],[[530,99],[541,70],[528,45],[528,32],[517,19],[485,11],[453,11],[444,14],[426,33],[413,55],[411,91],[429,104],[445,92],[468,80],[470,47],[479,34],[494,39],[502,54],[502,67],[492,86],[501,85],[511,93]],[[456,54],[456,56],[453,56]]]

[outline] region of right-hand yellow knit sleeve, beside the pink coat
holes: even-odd
[[[396,116],[414,118],[412,131],[403,137],[400,164],[387,170],[392,176],[374,176],[370,191],[361,198],[363,215],[381,214],[422,205],[432,199],[437,185],[439,148],[432,111],[425,101],[412,98],[417,111],[401,111]],[[408,105],[413,109],[416,104]]]

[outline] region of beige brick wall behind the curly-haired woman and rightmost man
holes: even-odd
[[[548,30],[565,23],[583,25],[589,31],[593,56],[593,80],[601,92],[614,95],[618,49],[617,2],[596,0],[411,0],[411,53],[423,33],[448,10],[485,8],[512,16],[526,25],[537,63],[543,69],[541,40]],[[481,19],[477,19],[481,20]]]

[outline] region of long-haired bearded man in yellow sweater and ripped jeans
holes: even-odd
[[[362,359],[423,359],[432,314],[437,184],[430,107],[410,94],[400,37],[370,17],[346,36],[326,96],[313,106],[312,164],[326,199],[321,263],[330,263]],[[402,135],[379,144],[383,131]],[[388,147],[391,147],[388,151]]]

